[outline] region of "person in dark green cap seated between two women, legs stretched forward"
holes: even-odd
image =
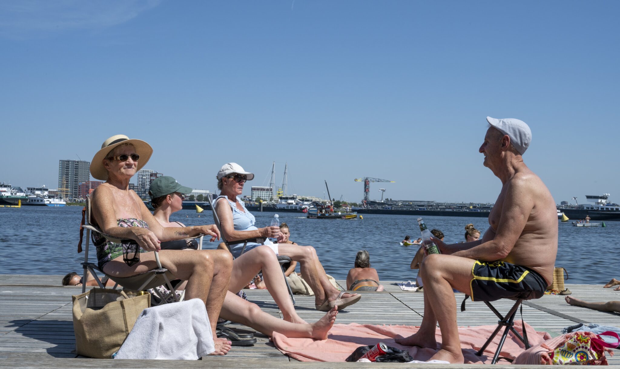
[[[153,215],[159,224],[163,227],[184,227],[180,222],[170,222],[170,215],[182,209],[183,194],[191,191],[191,188],[181,186],[170,176],[161,176],[151,183],[149,196],[151,196],[151,206],[155,209]],[[177,241],[162,242],[161,246],[162,248],[193,249],[192,245]],[[228,250],[224,252],[230,254]],[[263,271],[268,291],[282,311],[283,320],[265,313],[260,310],[259,305],[248,302],[234,293],[247,285],[247,282],[260,270]],[[254,328],[268,336],[272,336],[273,332],[278,332],[286,337],[326,339],[337,313],[337,308],[333,308],[314,324],[308,324],[301,319],[288,297],[288,290],[277,257],[267,246],[259,246],[242,254],[232,263],[228,293],[219,316]],[[234,341],[235,337],[231,339]]]

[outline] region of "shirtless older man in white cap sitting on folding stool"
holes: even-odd
[[[490,126],[479,151],[484,166],[502,181],[482,240],[446,245],[434,239],[442,254],[423,261],[424,318],[418,332],[397,339],[403,345],[436,349],[431,359],[463,363],[456,324],[453,288],[472,300],[539,298],[553,280],[557,253],[556,202],[547,187],[523,163],[531,141],[527,124],[518,119],[487,117]],[[495,279],[514,282],[498,282]]]

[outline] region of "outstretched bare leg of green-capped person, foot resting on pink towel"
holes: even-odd
[[[232,292],[227,293],[221,311],[222,318],[244,324],[267,336],[273,336],[273,332],[278,332],[286,337],[312,339],[327,339],[327,332],[334,325],[337,315],[338,309],[334,307],[316,323],[290,323],[265,313],[260,310],[260,306]]]

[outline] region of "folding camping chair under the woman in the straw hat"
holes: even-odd
[[[116,282],[114,287],[112,287],[113,289],[116,289],[118,285],[121,285],[123,289],[128,289],[128,290],[142,291],[142,290],[147,290],[147,289],[153,289],[157,297],[163,303],[167,303],[168,298],[171,296],[174,298],[175,302],[179,302],[183,300],[183,298],[185,297],[185,293],[183,293],[180,298],[177,296],[176,290],[170,283],[170,280],[175,279],[175,277],[172,275],[172,273],[168,271],[168,269],[161,266],[161,263],[159,262],[159,253],[155,253],[155,261],[157,262],[156,269],[152,269],[150,271],[136,274],[135,276],[130,276],[130,277],[110,276],[109,274],[105,274],[104,271],[99,269],[99,266],[97,266],[97,264],[89,263],[88,261],[89,244],[90,244],[89,241],[91,240],[91,237],[94,232],[99,233],[100,235],[105,237],[105,239],[108,241],[112,241],[115,243],[129,243],[129,244],[134,244],[137,246],[137,243],[134,240],[122,240],[120,238],[117,238],[117,237],[114,237],[112,235],[108,235],[102,232],[102,230],[100,230],[98,227],[95,227],[95,225],[92,224],[91,216],[92,216],[91,201],[90,201],[90,198],[87,197],[86,198],[86,209],[82,211],[82,225],[81,225],[81,228],[86,228],[86,247],[84,250],[84,262],[81,263],[82,269],[84,269],[84,277],[82,277],[82,280],[86,281],[87,272],[91,272],[92,276],[97,281],[97,284],[99,285],[99,287],[102,289],[105,289],[105,285],[102,283],[101,279],[99,278],[99,276],[97,276],[97,273],[95,272],[95,271],[99,271],[101,274],[104,274],[109,279],[112,279],[114,282]],[[82,232],[82,229],[81,229],[81,232]],[[198,250],[201,250],[203,237],[204,237],[203,235],[200,235],[198,237],[192,237],[188,239],[191,240],[193,238],[200,238],[200,241],[198,243]],[[94,243],[94,240],[93,240],[93,243]],[[82,252],[82,240],[80,237],[80,243],[78,245],[78,253],[81,253],[81,252]],[[159,292],[157,292],[157,289],[155,289],[155,287],[159,287],[164,284],[167,286],[170,292],[167,295],[162,296],[159,294]],[[86,283],[82,284],[82,293],[84,292],[86,292]]]

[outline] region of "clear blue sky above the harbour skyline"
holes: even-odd
[[[56,188],[114,134],[215,188],[226,162],[290,192],[494,202],[487,115],[519,118],[556,202],[618,173],[618,1],[0,2],[0,181]],[[249,186],[247,188],[249,194]]]

